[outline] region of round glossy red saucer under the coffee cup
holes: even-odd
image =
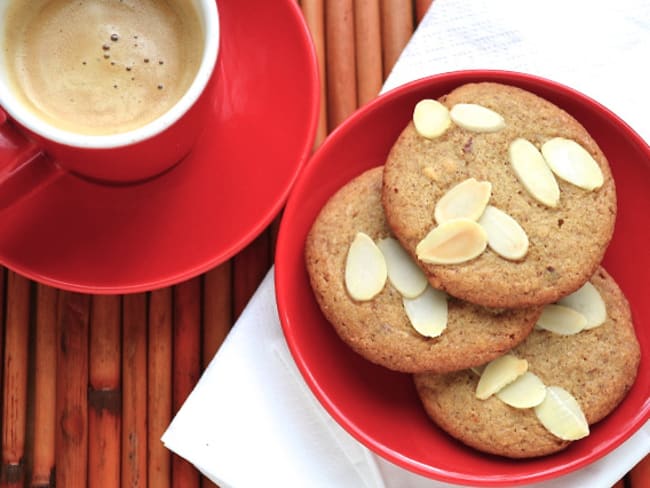
[[[0,213],[0,263],[88,293],[189,279],[277,215],[312,148],[318,68],[295,0],[219,0],[221,47],[193,152],[138,185],[66,175]]]

